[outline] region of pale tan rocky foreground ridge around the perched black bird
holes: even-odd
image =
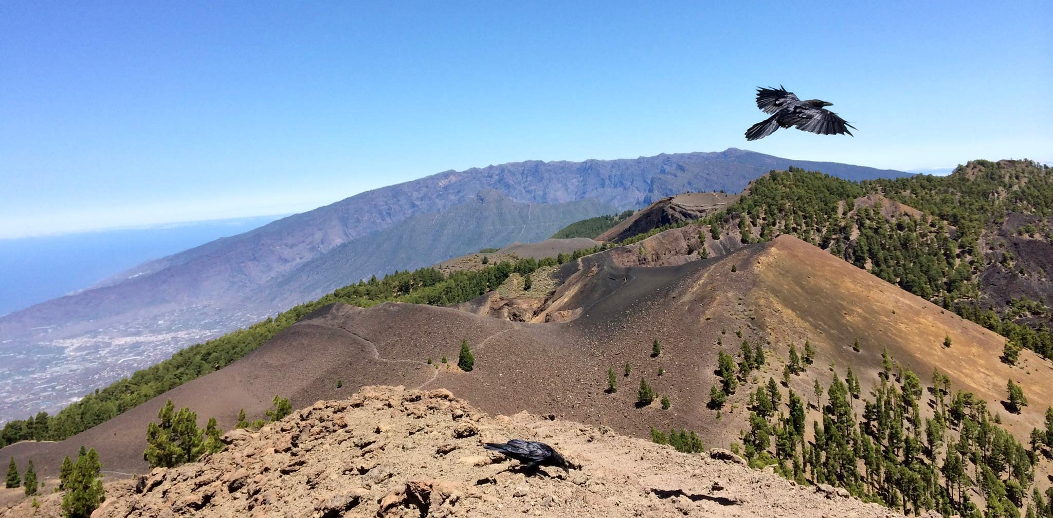
[[[575,469],[526,476],[481,446],[517,437],[554,445]],[[730,452],[680,454],[610,429],[490,417],[443,390],[363,387],[224,442],[201,462],[107,483],[92,516],[901,516],[750,470]],[[40,500],[35,515],[23,501],[0,516],[60,516],[60,494]]]

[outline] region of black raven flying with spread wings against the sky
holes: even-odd
[[[849,127],[855,126],[845,122],[837,114],[824,108],[834,103],[809,99],[797,99],[793,92],[787,92],[782,85],[779,89],[757,88],[757,107],[766,114],[775,114],[746,131],[746,140],[762,139],[779,127],[794,126],[797,130],[817,133],[819,135],[852,135]]]

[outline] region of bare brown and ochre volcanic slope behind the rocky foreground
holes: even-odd
[[[32,456],[54,474],[61,456],[83,443],[100,449],[107,470],[142,472],[146,423],[167,398],[192,406],[202,423],[216,416],[227,427],[238,409],[259,417],[276,393],[303,406],[374,383],[446,387],[488,412],[552,413],[636,435],[651,425],[687,427],[707,444],[727,445],[748,427],[741,409],[749,391],[732,397],[739,410],[726,407],[720,420],[706,401],[716,382],[717,340],[737,347],[737,330],[751,342],[771,341],[761,379],[777,378],[789,344],[799,347],[808,338],[817,350],[816,365],[852,365],[865,390],[876,379],[887,346],[914,372],[925,376],[938,366],[951,376],[952,392],[971,391],[992,404],[1010,377],[1026,382],[1034,401],[1053,398],[1053,370],[1031,352],[1021,353],[1020,367],[1010,367],[998,361],[1001,337],[793,237],[672,266],[619,266],[621,250],[583,258],[582,275],[561,288],[561,306],[580,307],[574,320],[531,324],[416,304],[330,306],[231,366],[97,429],[60,443],[16,444],[0,457],[24,462]],[[945,335],[953,339],[952,348],[942,347]],[[659,358],[650,356],[655,338],[663,344]],[[854,338],[862,344],[859,353],[851,348]],[[428,364],[442,356],[455,362],[462,339],[475,354],[473,372]],[[633,372],[621,377],[627,362]],[[603,392],[609,367],[619,373],[616,394]],[[792,386],[809,394],[814,379],[829,383],[830,376],[814,367],[794,377]],[[635,407],[641,377],[672,398],[670,411]],[[1002,418],[1022,441],[1032,426],[1044,425],[1044,410],[1036,404]]]

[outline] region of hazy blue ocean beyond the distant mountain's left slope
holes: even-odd
[[[241,234],[281,217],[0,239],[0,315],[83,290],[142,262]]]

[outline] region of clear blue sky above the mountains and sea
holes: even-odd
[[[1053,159],[1049,1],[495,3],[4,2],[0,237],[525,159]],[[856,137],[747,142],[779,83]]]

